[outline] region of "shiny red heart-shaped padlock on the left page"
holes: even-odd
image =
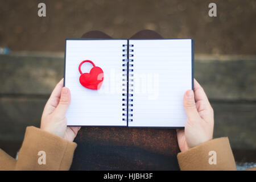
[[[93,68],[90,70],[90,73],[82,73],[81,65],[89,62],[93,65]],[[84,60],[79,65],[79,72],[81,74],[79,81],[80,84],[88,89],[98,90],[101,88],[104,73],[100,67],[96,67],[95,64],[90,60]]]

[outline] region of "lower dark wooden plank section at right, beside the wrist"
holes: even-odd
[[[254,103],[212,102],[214,138],[229,137],[234,149],[256,150],[256,105]]]

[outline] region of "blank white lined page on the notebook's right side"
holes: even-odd
[[[133,122],[183,127],[183,95],[192,89],[191,39],[130,40],[134,44]]]

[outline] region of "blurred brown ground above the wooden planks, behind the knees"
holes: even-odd
[[[164,38],[193,38],[196,53],[255,54],[256,1],[46,0],[39,18],[35,0],[0,1],[0,47],[14,51],[64,51],[65,38],[101,30],[130,38],[143,29]],[[210,2],[217,17],[208,16]]]

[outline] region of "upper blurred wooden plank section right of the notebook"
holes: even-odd
[[[196,61],[195,78],[212,100],[256,100],[256,60]]]

